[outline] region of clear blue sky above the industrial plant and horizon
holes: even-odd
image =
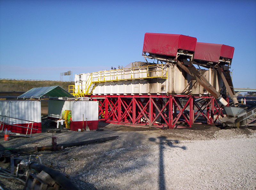
[[[256,88],[255,0],[0,0],[0,78],[60,80],[144,61],[146,32],[235,47],[234,87]]]

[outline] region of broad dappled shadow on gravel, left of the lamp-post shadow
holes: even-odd
[[[134,133],[130,136],[119,136],[118,139],[105,143],[66,149],[52,154],[52,157],[58,159],[56,165],[53,163],[52,166],[46,166],[72,176],[74,181],[78,181],[77,185],[81,190],[115,189],[116,186],[118,188],[122,185],[122,183],[118,184],[118,178],[134,170],[140,170],[148,164],[138,157],[136,146],[142,143],[142,138],[143,135]],[[147,150],[140,152],[140,155],[146,157]],[[124,163],[129,164],[124,165]],[[143,183],[145,178],[141,176],[132,180],[134,183]],[[128,184],[127,189],[133,187]]]

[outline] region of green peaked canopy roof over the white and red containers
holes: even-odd
[[[67,97],[75,98],[65,89],[60,86],[47,86],[47,87],[38,87],[32,88],[29,91],[18,96],[18,99],[28,99],[28,98],[49,98],[49,97]]]

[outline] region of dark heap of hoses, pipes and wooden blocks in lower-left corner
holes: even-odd
[[[7,180],[13,179],[24,185],[24,190],[78,190],[68,175],[57,170],[38,164],[41,162],[37,155],[30,155],[28,159],[14,157],[8,150],[0,151],[0,164],[9,164],[8,167],[0,167],[0,175]],[[16,182],[13,182],[16,184]],[[20,184],[20,183],[18,183]],[[0,186],[0,189],[3,189]]]

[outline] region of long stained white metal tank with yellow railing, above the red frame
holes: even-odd
[[[198,70],[217,91],[224,86],[215,69]],[[79,74],[75,75],[75,81],[76,89],[83,89],[84,93],[90,81],[95,82],[92,95],[209,94],[176,64]]]

